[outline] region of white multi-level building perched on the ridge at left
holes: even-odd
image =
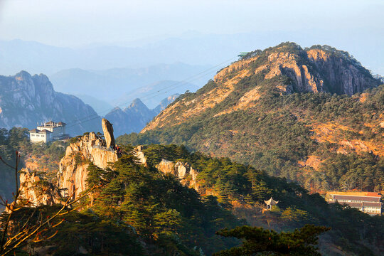
[[[65,122],[44,122],[38,125],[36,129],[29,131],[29,138],[31,142],[52,142],[54,140],[63,139],[68,137],[65,134]]]

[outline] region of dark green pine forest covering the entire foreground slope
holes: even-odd
[[[22,145],[24,139],[22,135],[15,139],[16,145]],[[62,154],[53,150],[56,147],[53,144],[43,148],[55,159]],[[132,149],[129,144],[123,147],[127,152]],[[380,255],[384,250],[380,216],[329,205],[319,194],[308,193],[285,178],[269,176],[228,158],[191,153],[185,146],[152,144],[146,146],[144,154],[147,167],[137,164],[132,154],[122,156],[106,170],[90,164],[87,184],[97,188],[78,203],[82,210],[64,215],[64,222],[50,230],[57,230],[57,235],[30,250],[43,247],[51,255],[76,255],[80,251],[88,255],[212,255],[240,245],[240,240],[230,236],[245,238],[242,229],[240,233],[222,231],[216,235],[223,228],[236,230],[252,225],[274,229],[277,233],[271,235],[278,242],[290,234],[280,237],[279,232],[294,232],[305,224],[331,228],[320,235],[319,248],[324,255],[340,255],[341,251]],[[210,195],[199,195],[193,188],[181,185],[176,176],[158,171],[156,165],[161,159],[191,164],[198,170],[199,186],[211,191]],[[278,206],[263,213],[264,200],[271,196],[279,201]],[[57,209],[37,208],[40,215],[51,215]],[[31,211],[33,208],[21,210],[14,218],[23,223]],[[298,238],[299,233],[292,234]]]

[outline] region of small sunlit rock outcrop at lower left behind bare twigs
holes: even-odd
[[[21,169],[20,191],[21,200],[28,201],[29,206],[52,206],[63,199],[57,187],[28,168]]]

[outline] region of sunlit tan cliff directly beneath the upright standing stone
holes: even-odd
[[[90,132],[67,147],[57,174],[58,188],[66,190],[64,196],[73,195],[76,198],[87,189],[87,167],[90,162],[105,169],[109,163],[117,161],[117,152],[106,146],[104,139]]]

